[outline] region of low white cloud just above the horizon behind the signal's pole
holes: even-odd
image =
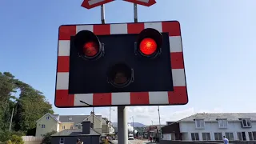
[[[166,124],[167,121],[178,121],[195,113],[218,113],[223,112],[221,108],[212,110],[195,110],[194,107],[189,107],[181,110],[174,110],[174,106],[160,106],[161,124]],[[110,118],[110,108],[95,108],[95,114],[100,114],[102,117]],[[127,106],[127,122],[141,122],[145,125],[159,124],[158,106]],[[117,107],[111,107],[111,121],[118,122]]]

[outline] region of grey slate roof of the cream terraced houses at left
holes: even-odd
[[[74,122],[74,124],[78,124],[89,116],[90,115],[59,115],[59,122]],[[101,115],[96,115],[96,117],[100,119],[102,118]]]

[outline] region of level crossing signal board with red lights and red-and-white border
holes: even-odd
[[[59,27],[55,106],[187,102],[179,22]]]

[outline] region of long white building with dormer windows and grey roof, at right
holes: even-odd
[[[198,113],[162,127],[163,139],[189,141],[256,140],[256,113]]]

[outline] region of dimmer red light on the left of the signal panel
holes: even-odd
[[[94,57],[98,54],[99,47],[96,42],[86,42],[83,46],[83,53],[87,57]]]

